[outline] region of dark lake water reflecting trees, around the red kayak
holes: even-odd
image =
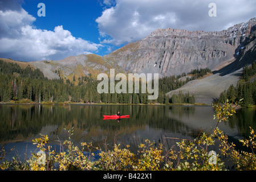
[[[130,118],[103,120],[103,115],[130,115]],[[77,146],[81,142],[92,142],[95,147],[111,146],[117,143],[129,144],[131,150],[145,139],[173,146],[180,139],[193,139],[200,131],[211,133],[217,121],[213,119],[211,106],[163,106],[163,105],[0,105],[0,145],[8,151],[7,159],[18,154],[34,152],[32,139],[39,134],[48,135],[52,146],[59,148],[56,140],[68,139],[64,129],[74,126],[73,140]],[[256,129],[255,109],[240,109],[230,122],[220,123],[232,142],[249,136],[249,126]],[[239,147],[239,146],[238,146]]]

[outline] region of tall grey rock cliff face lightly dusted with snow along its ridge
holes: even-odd
[[[126,72],[180,75],[191,69],[214,69],[235,60],[253,32],[256,18],[219,32],[158,29],[147,38],[104,56]]]

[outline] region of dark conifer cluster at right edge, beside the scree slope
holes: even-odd
[[[247,107],[256,105],[256,80],[249,80],[250,76],[256,74],[256,64],[253,62],[250,66],[243,68],[242,79],[237,85],[229,86],[218,98],[218,102],[224,103],[228,99],[231,102],[238,102],[243,98],[242,106]]]

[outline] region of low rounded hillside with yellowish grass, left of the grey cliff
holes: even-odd
[[[116,68],[116,73],[123,72],[116,67],[115,60],[105,59],[98,55],[78,55],[69,56],[59,61],[32,61],[34,67],[39,68],[44,76],[53,78],[63,78],[72,81],[79,77],[91,75],[97,77],[99,73],[109,73],[111,68]]]

